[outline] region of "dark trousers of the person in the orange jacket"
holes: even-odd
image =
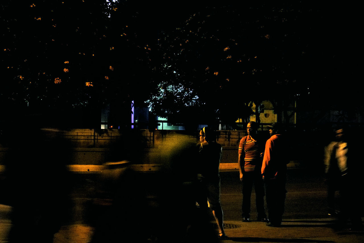
[[[286,199],[286,179],[265,179],[265,193],[268,207],[268,219],[271,224],[280,225]]]

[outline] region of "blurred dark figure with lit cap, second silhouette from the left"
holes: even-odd
[[[105,166],[88,208],[94,227],[90,243],[147,242],[149,217],[144,180],[128,161]]]

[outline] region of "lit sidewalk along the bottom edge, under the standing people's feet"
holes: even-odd
[[[214,223],[214,222],[211,222]],[[263,222],[225,221],[226,239],[233,242],[288,242],[288,243],[363,243],[364,231],[334,231],[333,219],[284,220],[279,228],[268,227]],[[63,226],[55,234],[54,243],[87,243],[92,237],[93,228],[87,225]],[[153,241],[150,241],[153,242]],[[171,242],[173,243],[173,242]]]

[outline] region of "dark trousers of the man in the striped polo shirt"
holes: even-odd
[[[258,218],[266,218],[264,208],[264,182],[262,175],[259,171],[244,172],[243,175],[243,203],[242,203],[242,216],[245,218],[250,217],[250,200],[252,196],[252,189],[255,189],[256,206]]]

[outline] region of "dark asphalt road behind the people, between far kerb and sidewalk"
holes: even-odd
[[[76,211],[72,214],[72,222],[85,222],[83,210],[85,205],[95,196],[100,174],[74,174],[74,200]],[[149,199],[153,200],[155,185],[153,175],[143,174]],[[158,187],[158,186],[156,186]],[[238,171],[221,172],[221,202],[225,220],[241,220],[242,184]],[[286,203],[284,219],[316,219],[327,218],[326,185],[324,175],[320,171],[312,172],[306,168],[288,170]],[[251,218],[256,218],[254,190],[251,203]]]

